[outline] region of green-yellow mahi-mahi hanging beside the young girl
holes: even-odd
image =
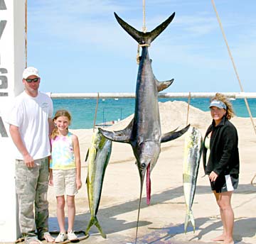
[[[102,184],[107,164],[110,160],[112,150],[112,141],[108,140],[98,130],[92,135],[92,143],[88,149],[85,161],[88,161],[87,167],[87,196],[90,207],[90,221],[86,228],[85,234],[95,225],[100,231],[100,235],[106,238],[100,223],[97,220],[97,211],[100,205],[100,196],[102,192]]]

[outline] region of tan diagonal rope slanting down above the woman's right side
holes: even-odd
[[[223,38],[224,38],[224,40],[225,40],[225,44],[226,44],[226,46],[227,46],[227,48],[228,48],[228,54],[229,54],[230,59],[231,59],[231,61],[232,61],[232,64],[233,64],[233,67],[234,67],[234,70],[235,70],[235,75],[236,75],[236,77],[238,78],[238,82],[239,82],[239,85],[240,85],[240,90],[241,90],[242,92],[244,92],[244,90],[242,89],[242,83],[241,83],[240,78],[239,78],[239,75],[238,75],[238,70],[237,70],[236,67],[235,67],[235,62],[234,62],[234,60],[233,60],[233,56],[232,56],[232,54],[231,54],[231,52],[230,52],[230,48],[229,48],[229,46],[228,46],[228,41],[227,41],[227,38],[226,38],[226,36],[225,36],[224,30],[223,30],[223,26],[222,26],[222,24],[221,24],[221,22],[220,22],[220,17],[218,16],[218,12],[217,12],[217,9],[216,9],[214,0],[211,0],[211,2],[212,2],[212,4],[213,4],[213,9],[214,9],[214,11],[215,11],[215,13],[216,13],[216,16],[217,16],[217,19],[218,19],[218,23],[219,23],[219,25],[220,25],[220,30],[221,30],[221,32],[222,32],[222,34],[223,34]],[[248,111],[248,113],[249,113],[249,115],[250,115],[250,120],[252,121],[252,126],[253,126],[253,129],[254,129],[255,134],[256,134],[255,123],[254,123],[254,121],[253,121],[253,119],[252,119],[252,113],[251,113],[251,111],[250,111],[250,107],[249,107],[249,104],[248,104],[248,102],[247,102],[247,98],[246,98],[246,97],[245,97],[245,105],[246,105],[246,107],[247,107],[247,111]]]

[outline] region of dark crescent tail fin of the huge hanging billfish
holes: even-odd
[[[139,44],[150,44],[168,25],[171,23],[171,21],[174,19],[175,13],[173,13],[169,18],[166,19],[163,23],[161,23],[159,26],[154,28],[151,32],[142,32],[139,30],[136,30],[132,26],[130,26],[128,23],[122,20],[122,18],[119,18],[117,13],[114,13],[115,18],[117,19],[117,22],[120,26],[134,38],[137,40],[137,43]]]

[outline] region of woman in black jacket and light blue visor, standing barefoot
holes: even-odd
[[[238,187],[239,153],[238,133],[229,120],[235,113],[232,104],[219,93],[210,100],[209,108],[213,122],[203,140],[203,167],[209,176],[223,222],[222,235],[213,241],[233,244],[234,212],[230,201]]]

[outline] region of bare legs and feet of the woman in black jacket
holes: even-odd
[[[217,193],[213,191],[218,206],[220,207],[220,217],[223,222],[222,235],[214,238],[214,241],[223,241],[223,244],[233,244],[234,212],[231,206],[231,196],[233,192]]]

